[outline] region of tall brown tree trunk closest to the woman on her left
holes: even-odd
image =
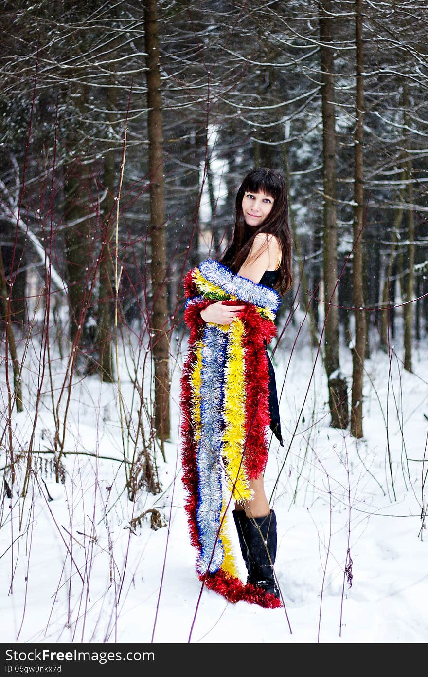
[[[151,241],[151,348],[155,375],[155,427],[163,443],[170,436],[169,330],[166,280],[164,151],[160,95],[158,9],[144,1],[144,29],[149,135]]]

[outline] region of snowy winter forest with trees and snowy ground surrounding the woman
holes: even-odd
[[[3,641],[426,641],[426,4],[0,12]],[[201,588],[180,473],[183,277],[252,167],[293,236],[276,610]]]

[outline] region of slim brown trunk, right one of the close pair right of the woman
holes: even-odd
[[[364,121],[364,68],[362,52],[362,10],[361,0],[355,0],[355,46],[356,46],[356,128],[354,135],[354,308],[355,308],[355,341],[352,350],[352,406],[351,435],[362,437],[362,380],[364,373],[364,353],[366,349],[366,318],[364,310],[362,284],[362,228],[364,223],[364,181],[362,132]]]

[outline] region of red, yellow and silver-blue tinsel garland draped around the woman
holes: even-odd
[[[230,500],[251,498],[249,479],[267,460],[268,361],[281,299],[270,287],[234,275],[207,259],[184,280],[190,329],[181,376],[183,484],[196,570],[205,585],[235,603],[279,607],[272,594],[243,584],[228,535]],[[206,324],[200,311],[215,301],[245,305],[230,325]],[[229,491],[228,491],[229,489]]]

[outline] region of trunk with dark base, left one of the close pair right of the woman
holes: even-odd
[[[346,380],[340,374],[339,324],[337,315],[337,223],[336,223],[336,139],[334,60],[331,38],[333,33],[331,1],[322,0],[320,9],[321,100],[323,110],[323,274],[325,305],[325,370],[329,379],[331,425],[348,426],[348,395]]]

